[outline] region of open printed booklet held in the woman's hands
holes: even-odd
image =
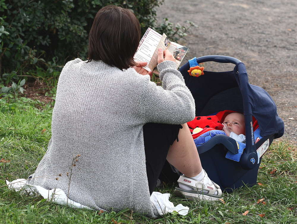
[[[149,72],[159,74],[157,70],[158,48],[167,49],[173,54],[176,59],[176,69],[188,51],[187,47],[171,42],[165,34],[161,35],[148,28],[139,42],[134,60],[147,62],[148,64],[143,68]]]

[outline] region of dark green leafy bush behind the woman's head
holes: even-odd
[[[110,4],[131,9],[139,19],[142,32],[148,26],[176,40],[186,28],[167,20],[156,23],[155,7],[163,0],[0,0],[0,76],[2,84],[18,81],[37,68],[51,73],[66,61],[86,59],[88,34],[94,15]],[[170,36],[171,35],[171,36]],[[28,75],[28,74],[27,74]],[[5,82],[3,81],[5,80]]]

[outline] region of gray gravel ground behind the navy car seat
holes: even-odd
[[[180,9],[179,9],[180,8]],[[265,89],[285,122],[281,139],[297,144],[297,1],[165,0],[160,21],[198,25],[178,42],[189,48],[182,64],[193,57],[227,55],[247,67],[249,82]],[[233,64],[209,62],[208,71],[230,71]]]

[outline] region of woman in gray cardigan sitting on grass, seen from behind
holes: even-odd
[[[52,137],[30,184],[60,188],[94,209],[130,208],[156,217],[150,194],[167,159],[184,174],[178,193],[220,197],[185,124],[195,116],[194,99],[173,55],[159,50],[157,86],[141,68],[146,63],[133,60],[139,40],[132,12],[99,10],[89,34],[89,61],[69,61],[61,72]],[[39,178],[59,173],[58,180]]]

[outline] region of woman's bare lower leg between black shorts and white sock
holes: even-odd
[[[195,142],[187,124],[182,124],[178,142],[170,146],[167,161],[187,177],[195,177],[202,171]]]

